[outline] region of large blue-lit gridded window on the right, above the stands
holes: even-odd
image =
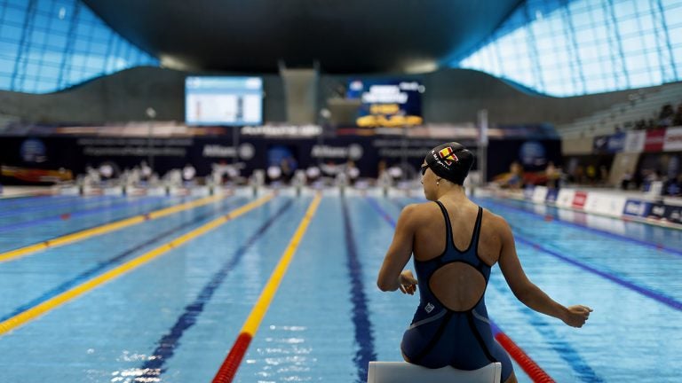
[[[682,81],[681,20],[682,0],[527,0],[453,66],[552,96]]]

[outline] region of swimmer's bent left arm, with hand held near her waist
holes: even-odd
[[[377,286],[381,291],[395,291],[400,288],[403,293],[414,293],[416,279],[411,277],[411,273],[404,276],[401,273],[412,255],[417,227],[416,215],[416,205],[408,205],[400,213],[398,223],[395,225],[393,242],[386,252],[377,278]],[[405,274],[408,274],[408,271]]]

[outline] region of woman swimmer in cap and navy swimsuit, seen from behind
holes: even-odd
[[[502,380],[516,382],[509,356],[493,338],[484,300],[496,262],[514,295],[535,311],[582,327],[592,309],[564,307],[527,278],[509,224],[464,193],[473,161],[473,153],[456,142],[426,155],[422,184],[432,202],[408,205],[400,213],[377,285],[407,294],[419,286],[419,306],[400,344],[407,362],[469,371],[500,362]],[[412,254],[418,282],[412,271],[403,270]]]

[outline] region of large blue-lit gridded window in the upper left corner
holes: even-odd
[[[0,0],[0,90],[47,93],[158,65],[80,0]]]

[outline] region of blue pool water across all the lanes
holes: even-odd
[[[228,197],[0,263],[0,320],[250,200]],[[311,200],[276,197],[0,335],[0,382],[209,382]],[[38,222],[0,230],[0,252],[182,201],[0,200],[0,226]],[[401,207],[419,201],[323,198],[235,381],[362,381],[369,360],[400,360],[417,297],[381,293],[376,277]],[[511,224],[536,285],[563,304],[594,309],[582,329],[568,327],[523,306],[493,269],[490,317],[544,371],[559,382],[678,380],[682,231],[512,200],[477,202]]]

